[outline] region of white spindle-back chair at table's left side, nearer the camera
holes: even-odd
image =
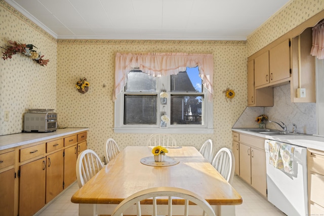
[[[76,160],[76,180],[79,188],[82,188],[102,167],[96,152],[91,149],[81,152]]]

